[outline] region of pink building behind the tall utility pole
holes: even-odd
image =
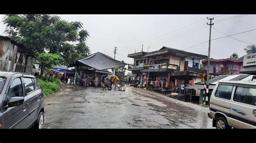
[[[207,69],[208,59],[201,61]],[[242,69],[242,59],[210,59],[210,74],[212,75],[234,75],[239,74]]]

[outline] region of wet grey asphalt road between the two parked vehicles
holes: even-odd
[[[44,128],[213,128],[208,108],[127,87],[65,86],[45,98]]]

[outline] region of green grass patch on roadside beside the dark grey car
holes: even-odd
[[[50,94],[56,93],[60,90],[60,80],[52,77],[37,78],[37,81],[47,97]]]

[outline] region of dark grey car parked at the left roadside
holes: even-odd
[[[43,128],[44,96],[35,76],[0,71],[0,128]]]

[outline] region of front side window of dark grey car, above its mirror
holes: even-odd
[[[15,78],[15,80],[12,81],[11,86],[6,95],[7,95],[8,100],[11,97],[23,97],[24,96],[21,78]]]

